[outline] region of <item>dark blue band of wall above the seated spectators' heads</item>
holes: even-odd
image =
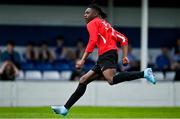
[[[129,38],[133,47],[140,47],[139,27],[118,27],[116,29]],[[47,41],[50,46],[54,46],[57,35],[64,36],[67,46],[74,46],[79,37],[83,38],[85,43],[88,41],[85,26],[0,25],[0,45],[6,45],[8,40],[13,40],[18,46],[24,46],[29,41],[37,45]],[[180,37],[180,28],[149,28],[149,47],[159,48],[162,45],[170,47],[178,37]]]

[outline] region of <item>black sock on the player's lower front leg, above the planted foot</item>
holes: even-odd
[[[86,84],[79,83],[76,91],[71,95],[71,97],[66,102],[64,107],[67,108],[67,109],[70,109],[72,107],[72,105],[74,103],[76,103],[76,101],[78,101],[78,99],[84,94],[84,92],[86,91],[86,87],[87,87]]]

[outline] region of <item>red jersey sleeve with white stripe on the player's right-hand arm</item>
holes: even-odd
[[[128,45],[128,38],[125,35],[116,31],[116,36],[117,36],[117,42],[119,42],[121,46]]]

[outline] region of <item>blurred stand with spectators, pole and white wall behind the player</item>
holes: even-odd
[[[129,39],[130,64],[121,65],[120,52],[118,71],[152,67],[158,82],[152,86],[140,79],[110,87],[99,79],[89,85],[77,105],[180,106],[178,1],[95,2],[108,14],[108,22]],[[97,59],[95,49],[84,68],[75,69],[88,42],[83,15],[90,3],[0,1],[0,106],[46,106],[67,100],[79,77]]]

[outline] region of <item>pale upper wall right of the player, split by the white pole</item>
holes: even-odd
[[[180,8],[150,8],[150,27],[180,27]],[[141,8],[115,8],[114,23],[117,26],[140,27]]]

